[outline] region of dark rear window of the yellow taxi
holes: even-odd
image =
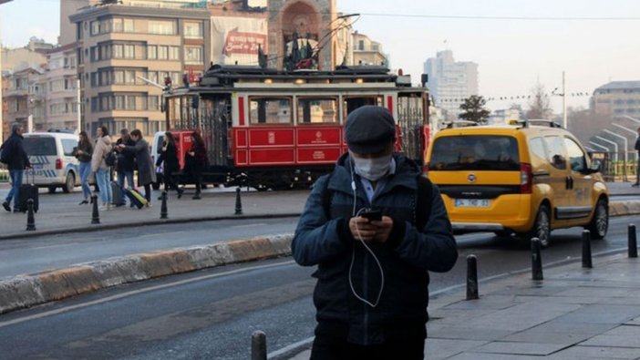
[[[438,138],[433,143],[429,170],[520,170],[515,138],[468,135]]]

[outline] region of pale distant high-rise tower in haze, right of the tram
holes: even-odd
[[[465,98],[478,95],[478,64],[456,62],[451,50],[439,51],[424,63],[428,75],[427,87],[448,120],[458,118]]]

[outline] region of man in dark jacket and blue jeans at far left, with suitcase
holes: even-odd
[[[11,136],[2,144],[2,160],[9,169],[9,177],[11,177],[11,190],[6,195],[5,202],[2,207],[5,211],[11,211],[11,200],[14,201],[14,212],[18,212],[18,201],[20,201],[20,186],[22,186],[22,177],[25,169],[31,168],[29,158],[26,156],[25,147],[23,145],[22,133],[25,131],[20,123],[14,123],[11,126]]]

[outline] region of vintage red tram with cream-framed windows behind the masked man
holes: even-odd
[[[364,105],[391,111],[397,150],[421,164],[428,104],[426,88],[383,67],[285,73],[215,65],[196,86],[165,91],[167,129],[201,131],[209,159],[204,181],[258,190],[308,187],[331,171],[346,151],[346,116]]]

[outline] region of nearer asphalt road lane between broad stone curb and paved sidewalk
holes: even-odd
[[[626,225],[614,218],[594,253],[626,247]],[[580,260],[580,229],[556,231],[542,253],[550,263]],[[132,238],[136,241],[136,238]],[[467,254],[478,257],[480,278],[529,271],[522,243],[489,234],[458,237],[460,258],[449,273],[432,274],[430,290],[462,287]],[[252,262],[134,283],[0,316],[2,359],[246,359],[254,330],[266,332],[269,352],[313,335],[313,268],[291,259]],[[482,281],[480,282],[482,293]]]

